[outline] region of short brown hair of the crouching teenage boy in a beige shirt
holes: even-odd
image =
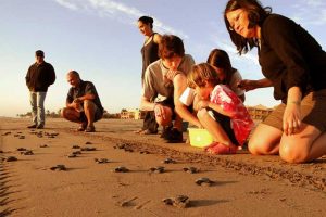
[[[183,40],[174,35],[163,35],[159,43],[159,56],[164,60],[171,59],[174,55],[185,55]]]

